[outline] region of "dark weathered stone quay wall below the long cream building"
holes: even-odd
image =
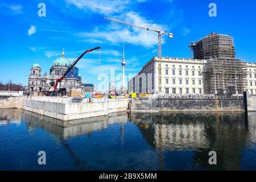
[[[242,99],[136,99],[133,111],[244,111]]]

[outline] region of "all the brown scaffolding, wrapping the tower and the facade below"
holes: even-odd
[[[246,63],[236,59],[231,36],[211,33],[189,47],[194,59],[208,60],[203,71],[204,94],[241,94],[245,90]]]

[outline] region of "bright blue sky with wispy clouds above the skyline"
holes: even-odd
[[[46,17],[38,16],[38,4],[46,4]],[[208,15],[208,5],[217,5],[217,17]],[[0,0],[0,81],[27,85],[32,64],[38,61],[49,74],[52,62],[65,49],[73,61],[85,49],[101,46],[77,65],[82,81],[96,84],[99,73],[110,68],[121,73],[125,42],[126,75],[137,73],[157,56],[157,34],[109,22],[104,16],[144,27],[172,32],[163,36],[163,56],[189,57],[188,44],[210,32],[234,37],[237,58],[256,62],[256,1],[243,0]]]

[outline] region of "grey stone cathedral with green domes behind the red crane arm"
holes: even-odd
[[[30,76],[28,77],[28,89],[32,92],[40,91],[53,91],[57,78],[60,78],[67,71],[71,63],[68,59],[65,59],[64,51],[61,57],[53,61],[51,68],[49,69],[49,75],[45,72],[42,75],[42,69],[39,64],[32,65],[30,69]],[[71,70],[78,74],[78,68]],[[67,90],[72,88],[81,88],[81,76],[78,78],[74,75],[68,75],[61,81],[58,88],[66,88]]]

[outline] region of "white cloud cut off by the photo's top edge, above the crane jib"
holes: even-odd
[[[88,0],[66,0],[68,5],[75,5],[77,8],[82,10],[90,10],[96,13],[108,15],[114,13],[121,13],[123,10],[127,9],[129,5],[135,2],[144,2],[145,0],[98,0],[98,1],[88,1]]]

